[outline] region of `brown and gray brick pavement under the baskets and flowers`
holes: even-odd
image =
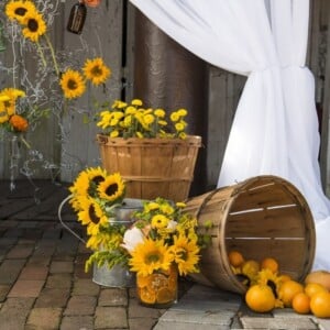
[[[329,319],[288,308],[253,314],[240,295],[184,279],[178,304],[167,310],[143,307],[134,287],[100,286],[85,273],[90,251],[59,223],[54,191],[50,195],[52,202],[33,208],[24,198],[19,204],[0,198],[0,330],[330,330]]]

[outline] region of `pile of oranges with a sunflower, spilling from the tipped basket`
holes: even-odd
[[[297,314],[330,318],[330,292],[323,284],[317,280],[299,283],[280,274],[274,257],[257,262],[245,260],[239,251],[230,251],[228,261],[233,273],[248,286],[245,302],[253,311],[293,308]]]

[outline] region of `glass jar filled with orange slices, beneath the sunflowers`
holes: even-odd
[[[168,308],[177,302],[178,271],[175,265],[169,270],[157,270],[143,276],[136,274],[136,293],[141,305],[154,308]]]

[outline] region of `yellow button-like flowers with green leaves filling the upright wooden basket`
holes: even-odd
[[[116,100],[111,107],[106,105],[105,108],[98,113],[97,127],[110,138],[186,139],[187,136],[186,109],[167,114],[164,109],[144,107],[140,99],[133,99],[130,103]]]

